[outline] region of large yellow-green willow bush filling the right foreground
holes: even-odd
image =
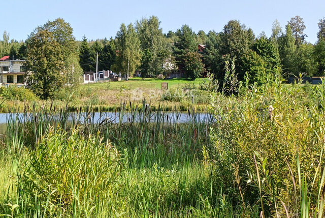
[[[215,183],[243,214],[258,204],[264,217],[321,217],[325,85],[282,85],[278,74],[238,90],[212,95]]]

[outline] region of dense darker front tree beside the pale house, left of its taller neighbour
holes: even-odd
[[[26,67],[31,90],[47,99],[64,84],[64,58],[59,43],[48,29],[31,34],[27,45]]]

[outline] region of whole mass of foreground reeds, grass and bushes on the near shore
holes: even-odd
[[[206,86],[214,119],[145,101],[122,102],[114,118],[53,105],[12,114],[0,213],[322,217],[325,85],[283,86],[278,73],[257,86],[226,68],[221,92]]]

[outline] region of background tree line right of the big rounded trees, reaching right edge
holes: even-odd
[[[256,37],[251,28],[238,20],[229,21],[221,32],[195,33],[183,25],[175,32],[163,33],[160,21],[152,16],[127,26],[121,24],[114,39],[89,42],[84,37],[79,57],[84,71],[94,70],[94,61],[89,61],[87,55],[99,53],[100,69],[128,75],[138,72],[143,78],[174,71],[190,79],[211,72],[222,80],[224,63],[230,60],[236,63],[239,79],[249,72],[257,83],[265,83],[267,75],[276,70],[285,76],[324,76],[324,18],[318,27],[317,42],[311,44],[306,41],[306,26],[299,16],[291,18],[284,30],[275,20],[271,37],[264,32]],[[198,51],[199,44],[205,46],[202,52]],[[169,67],[162,67],[165,63]]]

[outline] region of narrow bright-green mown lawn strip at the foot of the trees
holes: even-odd
[[[168,87],[182,87],[184,84],[194,84],[198,86],[202,82],[202,78],[197,78],[196,80],[187,80],[183,78],[175,78],[171,80],[158,80],[147,78],[143,80],[142,78],[130,78],[128,81],[117,81],[117,82],[110,82],[110,83],[91,83],[85,84],[84,86],[88,86],[89,88],[98,88],[98,89],[105,89],[109,86],[110,90],[120,90],[120,88],[124,85],[127,86],[129,89],[133,90],[136,88],[145,88],[145,89],[161,89],[161,83],[167,82]]]

